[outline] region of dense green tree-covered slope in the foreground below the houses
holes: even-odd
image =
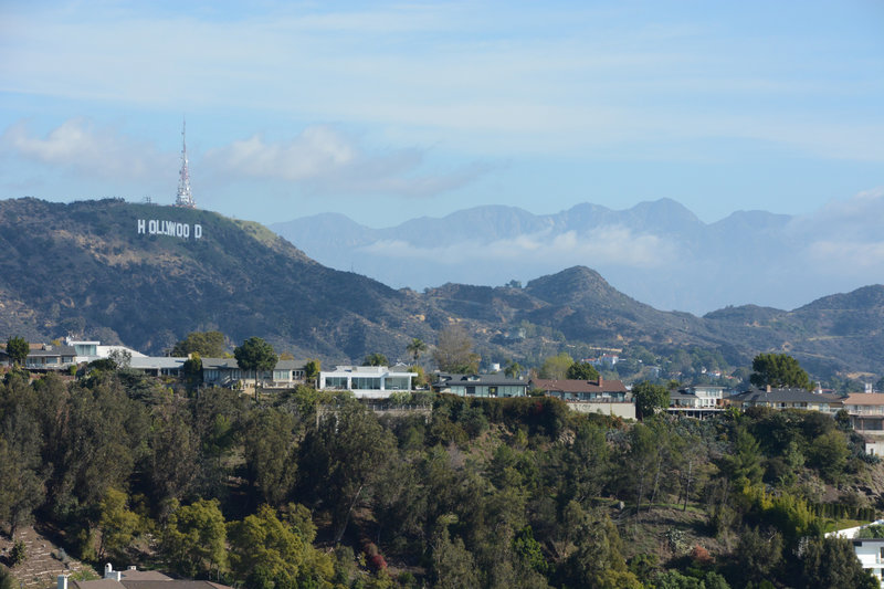
[[[159,558],[246,589],[869,582],[822,539],[823,514],[873,511],[848,490],[881,466],[828,416],[624,423],[552,398],[442,396],[379,418],[309,387],[183,390],[126,369],[9,372],[2,529],[36,517],[80,558]]]

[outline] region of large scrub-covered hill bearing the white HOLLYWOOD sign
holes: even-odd
[[[139,234],[139,219],[199,224],[202,236]],[[411,330],[407,295],[208,211],[3,201],[0,246],[15,253],[0,260],[0,329],[33,339],[88,333],[159,353],[189,330],[219,328],[329,357]]]

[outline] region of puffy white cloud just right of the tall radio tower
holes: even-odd
[[[255,135],[207,152],[203,164],[219,175],[284,180],[323,194],[424,197],[463,186],[487,168],[472,165],[451,172],[425,171],[415,148],[369,152],[330,126],[311,126],[288,141]]]

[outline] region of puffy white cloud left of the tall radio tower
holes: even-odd
[[[122,135],[114,128],[96,128],[83,118],[70,119],[43,137],[31,133],[24,122],[18,122],[0,135],[0,150],[104,179],[145,179],[176,169],[173,156],[160,154],[150,144]]]

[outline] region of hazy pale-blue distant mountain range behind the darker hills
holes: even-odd
[[[810,215],[738,211],[714,223],[662,199],[540,215],[477,207],[387,229],[325,213],[270,228],[322,264],[393,287],[525,283],[585,265],[656,308],[699,315],[747,303],[794,308],[881,282],[883,201],[870,192]]]

